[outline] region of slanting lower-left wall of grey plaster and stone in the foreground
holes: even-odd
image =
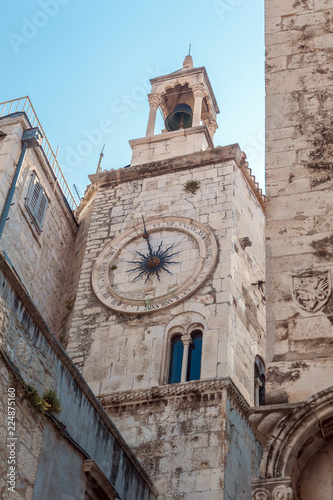
[[[92,459],[119,499],[153,500],[156,490],[148,476],[3,257],[0,268],[1,498],[83,499],[87,482],[83,465]],[[42,416],[29,397],[21,400],[28,385],[40,396],[55,390],[61,413]],[[6,484],[10,466],[6,445],[13,438],[7,418],[11,387],[16,392],[15,493]]]

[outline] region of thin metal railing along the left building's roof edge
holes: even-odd
[[[33,105],[31,104],[29,97],[20,97],[19,99],[13,99],[12,101],[5,101],[0,103],[0,118],[2,116],[8,116],[10,114],[19,112],[24,112],[27,115],[29,122],[31,123],[31,127],[38,127],[43,134],[41,147],[43,148],[44,154],[55,175],[56,183],[59,184],[60,189],[63,192],[63,195],[66,198],[71,210],[75,210],[75,208],[77,208],[77,203],[71,190],[69,189],[64,174],[62,173],[62,170],[59,166],[56,155],[51,148],[51,145],[46,137],[43,127],[40,124],[40,121],[38,120],[37,114],[34,110]]]

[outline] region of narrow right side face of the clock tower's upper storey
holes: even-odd
[[[254,360],[265,359],[266,353],[265,214],[240,169],[235,172],[232,221],[228,356],[238,388],[250,392],[253,404]]]

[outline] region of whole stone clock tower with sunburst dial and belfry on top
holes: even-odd
[[[159,498],[245,500],[261,457],[264,199],[237,144],[213,145],[204,67],[151,80],[129,167],[90,176],[68,352]],[[165,129],[155,134],[158,108]]]

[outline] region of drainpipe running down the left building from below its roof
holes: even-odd
[[[7,193],[7,197],[6,197],[6,201],[5,201],[3,210],[2,210],[2,214],[0,216],[0,239],[2,237],[2,233],[3,233],[3,230],[5,228],[7,218],[8,218],[9,209],[10,209],[10,206],[11,206],[12,201],[13,201],[13,197],[14,197],[14,193],[15,193],[15,189],[16,189],[16,184],[17,184],[17,179],[18,179],[18,176],[19,176],[22,164],[23,164],[25,152],[28,148],[39,147],[41,144],[42,138],[43,138],[43,136],[42,136],[40,130],[38,129],[38,127],[30,128],[30,129],[23,131],[23,135],[22,135],[22,139],[21,139],[22,144],[23,144],[22,151],[20,154],[19,161],[16,165],[16,169],[14,172],[12,183],[11,183],[9,191]]]

